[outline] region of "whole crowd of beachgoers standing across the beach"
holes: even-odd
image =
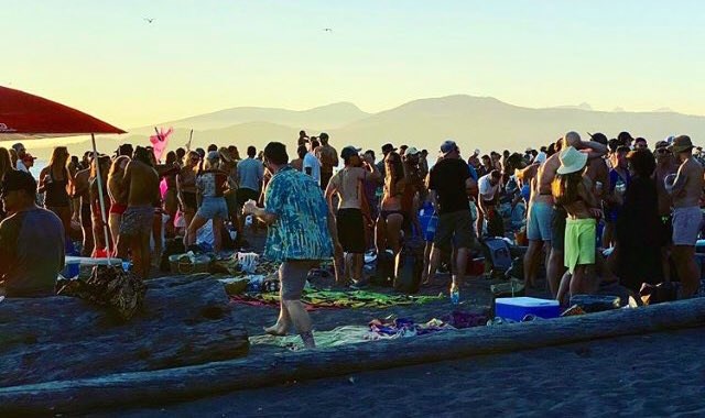
[[[243,242],[248,216],[252,228],[268,229],[265,255],[282,262],[285,297],[269,329],[276,334],[290,321],[304,337],[310,332],[297,300],[317,261],[334,258],[339,286],[364,286],[366,252],[390,253],[398,268],[414,238],[427,241],[423,283],[434,282],[445,258],[451,292],[486,235],[528,244],[527,285],[536,285],[543,264],[552,295],[563,302],[603,282],[638,292],[642,283],[677,276],[683,297],[698,289],[704,176],[701,148],[688,136],[650,148],[628,132],[611,140],[568,132],[539,150],[475,150],[467,158],[447,140],[433,164],[426,150],[390,143],[379,161],[373,150],[352,145],[338,154],[326,133],[301,131],[291,161],[273,142],[259,154],[248,146],[245,158],[236,146],[177,148],[163,163],[149,146],[123,144],[112,156],[87,152],[80,160],[57,146],[37,179],[23,144],[0,148],[3,292],[51,294],[56,277],[48,272],[63,267],[75,226],[82,255],[129,260],[148,278],[164,239],[183,237],[185,248],[197,250],[198,231],[210,223],[218,252],[226,223]],[[420,221],[422,208],[437,216],[433,234]],[[604,249],[610,249],[606,257]],[[34,263],[40,255],[51,263]]]

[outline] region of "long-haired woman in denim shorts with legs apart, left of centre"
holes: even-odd
[[[184,237],[184,245],[186,248],[196,243],[198,230],[208,220],[213,220],[213,249],[216,253],[221,250],[223,221],[228,218],[228,206],[224,197],[228,176],[219,169],[219,161],[220,157],[217,151],[209,152],[204,162],[204,169],[196,179],[196,188],[202,197],[202,202],[198,212],[196,212],[186,230],[186,237]]]

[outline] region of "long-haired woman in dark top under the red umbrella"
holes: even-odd
[[[39,191],[44,194],[44,207],[56,213],[64,224],[66,237],[70,233],[70,197],[68,191],[73,187],[67,168],[68,148],[57,146],[52,152],[48,166],[40,173]]]

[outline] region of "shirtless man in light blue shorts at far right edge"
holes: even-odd
[[[664,180],[665,189],[673,197],[673,261],[681,278],[683,298],[697,293],[699,268],[695,263],[695,242],[703,222],[699,200],[703,195],[703,166],[693,157],[690,136],[673,140],[671,152],[681,163],[675,176]]]

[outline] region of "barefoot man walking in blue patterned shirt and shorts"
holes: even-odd
[[[328,208],[321,187],[288,165],[286,147],[270,142],[264,147],[264,166],[273,174],[264,191],[264,208],[253,200],[242,212],[269,226],[264,256],[281,262],[281,310],[276,323],[264,331],[284,336],[293,323],[306,348],[314,348],[311,318],[301,302],[308,271],[333,255]]]

